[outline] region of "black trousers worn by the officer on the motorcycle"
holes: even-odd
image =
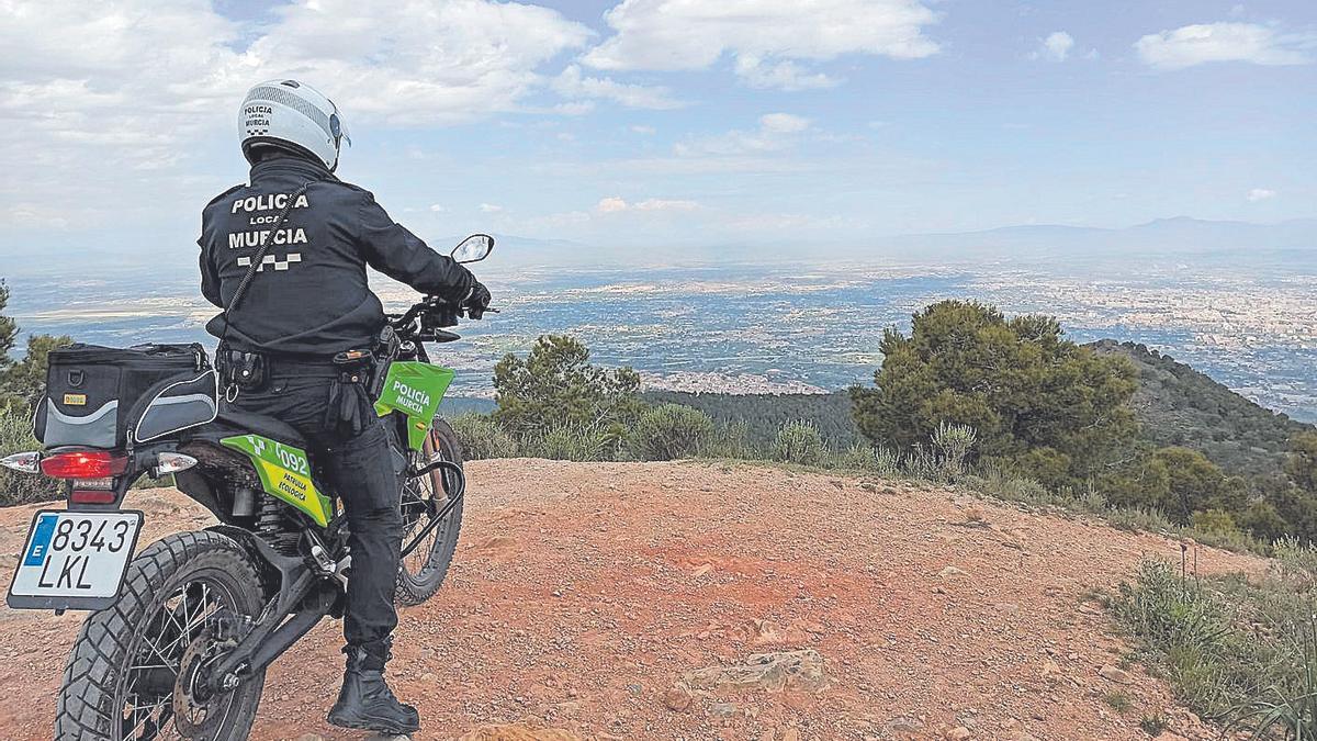
[[[348,423],[340,407],[357,406]],[[370,411],[360,384],[337,385],[333,377],[275,376],[258,392],[242,392],[233,406],[287,422],[312,443],[329,484],[342,497],[350,531],[352,574],[344,638],[366,650],[375,667],[389,661],[389,641],[398,626],[394,588],[403,518],[398,476],[390,461],[389,435]]]

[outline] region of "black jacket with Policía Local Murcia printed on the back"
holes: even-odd
[[[271,222],[303,183],[283,225]],[[261,240],[273,240],[246,293],[228,316],[236,349],[331,356],[365,347],[385,326],[366,285],[366,265],[424,294],[466,297],[474,278],[452,258],[394,223],[366,190],[307,160],[278,157],[252,166],[250,185],[215,198],[202,212],[202,294],[224,309]],[[225,316],[205,324],[224,338]]]

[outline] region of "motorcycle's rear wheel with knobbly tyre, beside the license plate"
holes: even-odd
[[[263,674],[221,695],[192,690],[227,647],[220,624],[255,617],[262,597],[250,556],[232,538],[178,533],[148,546],[129,564],[119,601],[83,622],[59,688],[55,740],[246,738]]]

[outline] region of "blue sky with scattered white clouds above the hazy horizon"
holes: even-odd
[[[1317,215],[1310,0],[0,0],[0,276],[190,258],[273,78],[431,240]]]

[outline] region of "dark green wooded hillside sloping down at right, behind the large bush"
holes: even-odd
[[[1134,361],[1139,389],[1131,406],[1143,436],[1158,446],[1198,450],[1229,473],[1279,473],[1289,438],[1312,430],[1142,344],[1102,340],[1088,347]]]

